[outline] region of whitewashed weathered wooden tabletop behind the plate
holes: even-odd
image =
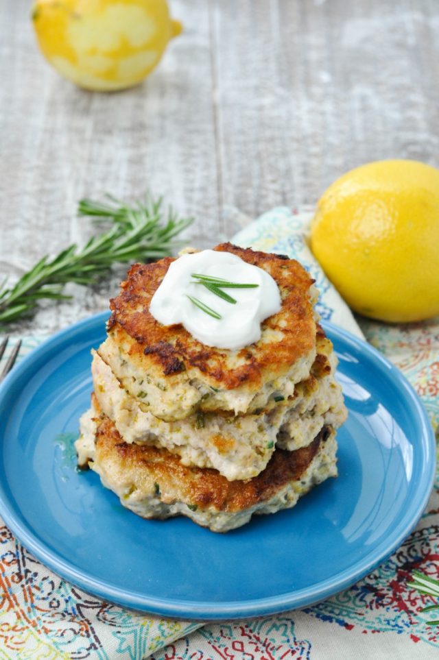
[[[82,242],[80,197],[145,188],[207,247],[363,162],[439,164],[437,0],[175,0],[185,32],[132,90],[88,93],[40,56],[29,1],[0,0],[0,272]],[[120,273],[16,334],[104,309]],[[78,288],[79,289],[79,288]]]

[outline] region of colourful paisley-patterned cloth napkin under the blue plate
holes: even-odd
[[[388,356],[438,428],[438,319],[405,326],[355,320],[309,251],[311,215],[311,208],[275,208],[233,241],[298,258],[316,280],[322,318]],[[25,338],[21,354],[39,341]],[[439,626],[420,613],[431,599],[406,586],[416,568],[439,577],[438,479],[412,535],[359,583],[313,607],[226,624],[164,620],[88,596],[40,564],[0,520],[0,660],[437,659]]]

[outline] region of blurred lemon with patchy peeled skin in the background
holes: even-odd
[[[98,91],[143,80],[182,29],[166,0],[36,0],[32,21],[55,69]]]

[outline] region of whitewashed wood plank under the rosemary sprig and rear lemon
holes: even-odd
[[[198,218],[191,242],[211,245],[219,203],[204,1],[173,3],[185,32],[144,84],[114,94],[62,80],[37,51],[27,1],[5,5],[0,271],[19,274],[43,254],[83,242],[91,223],[75,218],[78,199],[104,191],[132,197],[149,187],[163,194],[180,213]],[[51,306],[20,330],[51,331],[106,308],[110,291],[115,282],[100,293],[81,291],[78,304]]]

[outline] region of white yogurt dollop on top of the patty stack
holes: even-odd
[[[195,282],[193,273],[258,286],[223,289],[237,301],[231,304]],[[215,310],[221,319],[195,306],[188,295]],[[212,249],[185,254],[172,262],[150,304],[150,313],[164,326],[182,323],[195,339],[207,346],[231,350],[258,341],[262,321],[280,309],[281,294],[272,276],[235,254]]]

